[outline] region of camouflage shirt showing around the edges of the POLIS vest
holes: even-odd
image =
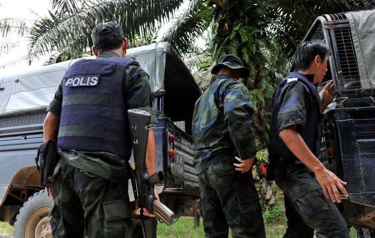
[[[98,58],[119,57],[114,52],[103,52]],[[151,114],[151,123],[158,123],[155,113],[151,108],[152,97],[149,78],[147,73],[138,65],[129,65],[124,74],[123,91],[127,107],[146,110]],[[57,115],[61,114],[62,108],[62,84],[60,84],[54,99],[47,107]],[[62,151],[59,150],[65,162],[76,168],[86,170],[103,178],[115,181],[126,174],[125,165],[127,160],[119,159],[116,154],[98,151]],[[128,159],[128,158],[127,158]]]

